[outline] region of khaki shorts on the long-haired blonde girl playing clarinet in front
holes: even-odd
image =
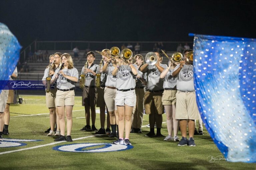
[[[60,91],[56,92],[56,106],[74,106],[75,105],[75,91]]]

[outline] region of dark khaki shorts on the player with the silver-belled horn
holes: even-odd
[[[162,115],[164,114],[164,106],[162,104],[162,92],[153,93],[146,91],[144,96],[144,108],[145,113],[150,115],[151,113]]]

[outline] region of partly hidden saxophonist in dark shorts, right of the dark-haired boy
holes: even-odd
[[[102,53],[106,53],[109,52],[109,49],[103,49]],[[103,63],[102,65],[107,65],[107,57],[105,55],[102,55],[103,58]],[[104,100],[104,88],[105,88],[105,83],[106,83],[106,79],[107,79],[107,74],[105,72],[102,72],[102,68],[98,67],[97,69],[97,73],[101,73],[101,79],[100,79],[100,87],[96,89],[96,93],[97,93],[97,102],[96,102],[96,107],[100,108],[100,126],[101,128],[99,129],[99,131],[97,131],[95,134],[107,134],[109,135],[111,133],[110,130],[110,118],[109,118],[109,112],[108,112],[108,108],[107,108],[107,128],[105,130],[105,119],[106,119],[106,114],[105,114],[105,110],[106,110],[106,103]]]

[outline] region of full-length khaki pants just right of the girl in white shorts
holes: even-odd
[[[145,91],[144,89],[135,88],[136,94],[136,106],[133,108],[132,114],[132,127],[141,128],[143,122],[143,99]]]

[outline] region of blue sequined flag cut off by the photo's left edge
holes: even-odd
[[[6,25],[0,23],[0,80],[9,80],[20,57],[21,46]],[[0,93],[6,85],[0,84]]]

